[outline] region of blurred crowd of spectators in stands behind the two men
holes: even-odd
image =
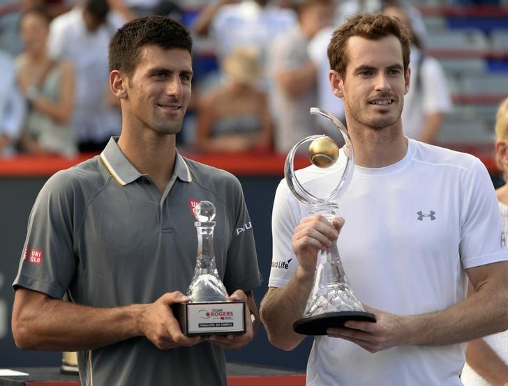
[[[507,6],[505,0],[448,3]],[[329,38],[349,15],[378,10],[399,17],[412,37],[405,134],[436,143],[452,97],[442,64],[426,52],[428,27],[418,4],[0,0],[0,156],[98,153],[118,135],[107,45],[124,22],[149,14],[180,20],[195,38],[193,101],[177,137],[180,148],[286,154],[300,139],[323,132],[340,142],[330,122],[309,114],[320,107],[343,121],[328,81]]]

